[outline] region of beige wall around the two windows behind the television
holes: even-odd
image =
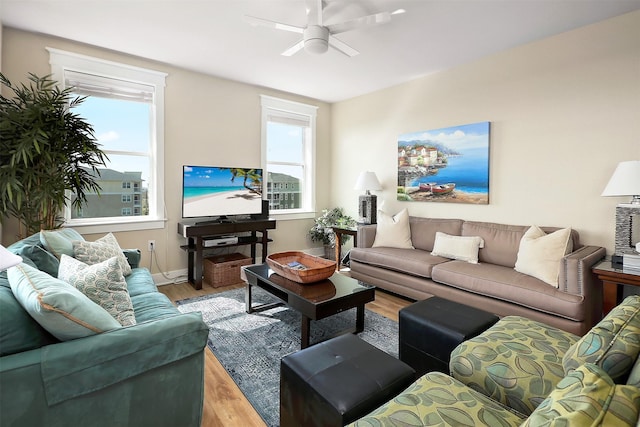
[[[121,246],[142,249],[144,266],[148,266],[150,261],[146,242],[155,239],[157,261],[164,271],[187,267],[186,255],[179,249],[184,239],[177,234],[177,222],[181,217],[183,164],[260,165],[261,94],[318,106],[317,161],[326,164],[329,159],[329,104],[13,28],[5,27],[3,35],[3,72],[14,82],[26,80],[28,72],[39,75],[51,72],[45,47],[168,73],[165,92],[166,226],[162,230],[116,233]],[[242,164],[238,164],[240,159]],[[320,183],[327,182],[328,168],[319,168],[317,178]],[[328,186],[319,185],[317,201],[320,207],[329,205]],[[278,222],[277,229],[270,233],[274,240],[270,249],[309,247],[311,242],[306,231],[311,225],[311,219]],[[14,242],[16,233],[16,225],[7,222],[2,236],[4,244]],[[100,236],[85,237],[93,240]],[[154,259],[153,271],[157,272],[155,265]]]

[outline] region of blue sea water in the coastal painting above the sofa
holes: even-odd
[[[413,182],[446,184],[454,182],[456,190],[465,193],[489,193],[489,153],[487,148],[461,151],[461,156],[449,157],[447,167],[438,170],[435,175],[423,176]]]

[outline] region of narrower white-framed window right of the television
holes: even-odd
[[[318,107],[265,95],[261,100],[262,162],[270,214],[313,216]]]

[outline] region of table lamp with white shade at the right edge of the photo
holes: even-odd
[[[631,201],[616,207],[616,253],[614,262],[620,262],[624,254],[635,254],[640,242],[640,160],[620,162],[603,196],[631,196]]]

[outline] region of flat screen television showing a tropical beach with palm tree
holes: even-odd
[[[226,219],[262,213],[262,169],[182,167],[182,217]]]

